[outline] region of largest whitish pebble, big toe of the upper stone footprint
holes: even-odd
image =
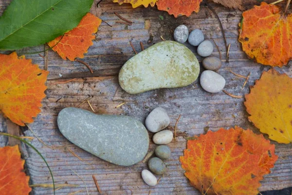
[[[218,93],[224,88],[225,79],[214,71],[205,70],[201,74],[200,83],[205,91],[210,93]]]

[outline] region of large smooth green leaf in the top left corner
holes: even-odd
[[[78,25],[93,0],[13,0],[0,18],[0,49],[46,43]]]

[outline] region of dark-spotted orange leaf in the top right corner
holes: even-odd
[[[279,6],[262,2],[242,16],[239,41],[251,59],[279,67],[292,59],[292,14],[285,17]]]

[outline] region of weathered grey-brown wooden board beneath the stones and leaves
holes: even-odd
[[[10,0],[0,1],[0,14],[9,2]],[[258,5],[259,2],[244,0],[244,4],[247,8],[251,8],[252,5]],[[149,47],[162,41],[160,36],[172,40],[175,27],[185,24],[189,29],[200,28],[206,39],[213,41],[213,38],[218,44],[224,61],[219,74],[226,79],[225,89],[235,95],[249,93],[249,86],[254,85],[255,80],[260,77],[261,73],[270,67],[247,59],[241,51],[241,45],[237,41],[241,12],[210,3],[222,21],[227,42],[231,43],[230,62],[227,63],[224,60],[226,50],[218,20],[204,4],[201,5],[199,14],[193,13],[189,18],[180,17],[178,19],[169,16],[166,12],[158,11],[156,7],[132,9],[128,4],[120,6],[118,3],[111,2],[111,0],[103,0],[99,5],[102,9],[100,18],[112,27],[106,23],[101,24],[96,39],[93,41],[93,46],[90,47],[89,52],[83,59],[91,65],[93,74],[84,65],[75,61],[62,60],[53,51],[42,53],[42,55],[45,55],[45,59],[39,57],[38,54],[26,54],[26,58],[31,58],[41,68],[47,68],[50,71],[47,81],[48,89],[45,92],[47,97],[42,101],[42,112],[37,116],[35,122],[30,124],[30,127],[38,137],[52,147],[68,145],[70,142],[60,134],[56,126],[58,112],[65,107],[78,106],[84,99],[94,96],[90,102],[97,113],[122,114],[144,122],[147,114],[153,108],[162,106],[171,117],[171,126],[174,126],[176,119],[179,115],[182,115],[178,124],[177,140],[169,144],[172,156],[169,160],[166,160],[168,164],[167,173],[164,174],[157,186],[149,187],[141,178],[141,171],[147,167],[142,162],[131,167],[116,166],[92,156],[78,147],[72,147],[71,150],[83,159],[81,161],[67,149],[53,150],[34,139],[32,143],[47,159],[54,173],[55,182],[57,184],[79,185],[79,187],[59,189],[56,193],[67,195],[82,190],[78,194],[86,194],[82,180],[73,173],[75,171],[84,179],[88,191],[92,195],[98,194],[92,175],[96,176],[104,195],[131,195],[131,192],[133,195],[148,195],[149,191],[151,191],[151,195],[199,194],[183,176],[184,171],[180,166],[179,156],[183,155],[183,149],[186,147],[184,137],[200,135],[205,127],[216,131],[220,127],[230,128],[235,125],[245,129],[250,128],[259,133],[247,119],[248,114],[243,105],[244,98],[231,98],[223,92],[209,94],[202,90],[198,81],[183,88],[160,89],[139,95],[129,95],[120,88],[117,75],[121,66],[134,55],[129,40],[132,41],[137,51],[141,51],[140,41],[144,43],[145,47]],[[281,5],[284,6],[284,4]],[[133,21],[133,25],[116,24],[115,22],[120,19],[114,15],[114,12]],[[291,13],[291,10],[289,12]],[[164,20],[159,16],[163,16]],[[148,30],[145,29],[146,20],[150,20],[151,23]],[[148,43],[148,40],[151,40],[151,42]],[[188,43],[185,45],[196,53],[195,47]],[[26,48],[18,51],[18,54],[42,51],[44,48],[44,45]],[[214,55],[219,56],[219,51],[216,47],[214,48]],[[201,57],[197,54],[196,56],[201,61]],[[288,66],[276,69],[292,77],[291,64],[290,62]],[[244,79],[234,76],[229,72],[230,70],[241,75],[252,73],[244,89],[241,89]],[[54,82],[70,78],[77,79],[66,84],[51,85]],[[126,104],[115,108],[122,102],[126,102]],[[91,110],[88,104],[83,104],[81,108]],[[5,121],[3,117],[0,117],[1,132],[6,131]],[[23,130],[27,129],[24,128]],[[25,136],[33,136],[33,134],[27,130]],[[149,136],[152,137],[152,134],[149,134]],[[275,163],[272,173],[265,176],[261,182],[260,191],[292,186],[292,145],[277,144],[274,141],[272,143],[276,144],[276,154],[279,159]],[[6,144],[7,138],[0,137],[0,146]],[[150,148],[153,147],[154,144],[151,143]],[[42,159],[33,150],[23,145],[22,150],[26,159],[27,172],[31,176],[31,183],[51,183],[52,178]],[[33,189],[34,195],[49,195],[52,193],[52,189]]]

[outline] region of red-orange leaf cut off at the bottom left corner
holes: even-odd
[[[24,160],[20,158],[18,146],[0,148],[0,192],[1,195],[28,195],[29,176],[23,172]]]

